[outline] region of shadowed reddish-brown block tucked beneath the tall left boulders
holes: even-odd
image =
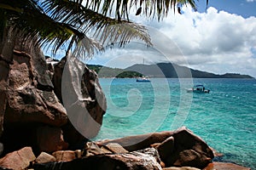
[[[60,127],[38,127],[38,149],[45,152],[67,150],[68,144],[64,141]]]

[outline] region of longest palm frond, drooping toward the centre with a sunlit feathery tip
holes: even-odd
[[[111,4],[109,1],[105,3]],[[113,19],[104,14],[99,14],[90,8],[85,8],[81,4],[64,0],[45,0],[43,8],[45,8],[45,13],[50,14],[50,17],[54,20],[76,27],[84,32],[84,35],[88,31],[94,32],[91,34],[102,44],[98,44],[94,47],[102,48],[104,44],[107,44],[107,41],[118,42],[119,45],[122,46],[125,45],[126,42],[130,42],[131,38],[142,39],[148,45],[151,45],[150,38],[144,27],[131,24],[128,20]],[[95,8],[97,8],[97,6],[95,6]],[[123,26],[122,30],[119,27],[120,24]],[[110,27],[112,29],[109,29]],[[114,31],[114,28],[118,29]],[[113,33],[110,33],[109,30],[113,31]],[[76,38],[76,40],[79,42],[78,38]],[[80,38],[80,41],[81,40]],[[90,41],[86,40],[85,42]]]

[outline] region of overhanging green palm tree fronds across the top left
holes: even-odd
[[[131,8],[137,8],[136,14],[161,20],[170,8],[175,12],[177,4],[188,3],[196,8],[195,0],[0,0],[1,58],[8,58],[3,48],[7,48],[10,31],[52,48],[54,54],[78,44],[80,51],[93,54],[111,43],[123,46],[132,38],[151,45],[145,27],[129,20]]]

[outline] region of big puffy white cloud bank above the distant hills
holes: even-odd
[[[156,34],[151,36],[154,42],[162,48],[161,50],[166,51],[165,54],[170,54],[168,59],[179,65],[187,65],[188,62],[190,67],[202,71],[212,71],[218,74],[236,72],[256,77],[255,17],[245,19],[236,14],[218,12],[212,7],[207,9],[207,13],[198,13],[189,7],[184,7],[183,14],[170,13],[160,22],[135,16],[131,17],[131,20],[153,26],[166,35],[169,39]],[[181,49],[184,59],[177,58],[180,54],[175,54],[177,50],[172,48],[175,43]],[[140,54],[143,57],[146,55],[146,59],[150,62],[167,60],[165,57],[156,57],[151,52],[147,54],[146,51],[147,49],[140,50],[139,48],[132,52],[126,48],[122,49],[119,54],[126,55],[128,59],[124,60],[121,65],[136,63],[134,59],[137,59]],[[113,55],[119,56],[115,52],[97,56],[95,61],[111,55],[112,57]],[[118,63],[122,62],[116,62]]]

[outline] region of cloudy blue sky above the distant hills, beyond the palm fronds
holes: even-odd
[[[143,63],[174,62],[217,74],[256,77],[256,0],[200,0],[197,12],[189,7],[164,20],[131,16],[148,27],[154,46],[131,42],[121,49],[97,54],[87,63],[125,68]]]

